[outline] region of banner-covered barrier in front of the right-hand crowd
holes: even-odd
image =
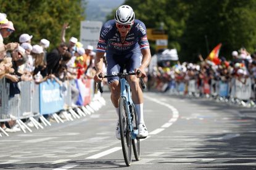
[[[169,93],[170,95],[207,96],[207,98],[212,97],[217,101],[228,102],[229,104],[256,107],[255,90],[255,82],[249,77],[246,80],[245,78],[241,80],[233,78],[229,82],[212,80],[210,85],[202,83],[200,87],[195,79],[188,82],[175,82],[175,85],[170,88]]]

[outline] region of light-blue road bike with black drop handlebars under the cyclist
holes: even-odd
[[[120,125],[120,136],[123,150],[123,157],[125,159],[126,166],[131,165],[131,146],[133,146],[133,153],[136,161],[139,161],[141,156],[141,148],[138,134],[138,118],[131,99],[130,85],[127,81],[128,75],[136,75],[139,72],[132,73],[118,73],[114,75],[105,75],[103,78],[107,77],[119,77],[119,82],[121,85],[121,94],[119,99],[119,125]],[[99,76],[100,77],[100,76]],[[101,76],[102,77],[102,76]],[[100,78],[101,78],[100,77]],[[142,78],[139,78],[141,87],[146,88]],[[98,83],[98,89],[102,93],[101,83]]]

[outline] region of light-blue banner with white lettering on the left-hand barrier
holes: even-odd
[[[60,85],[55,80],[47,80],[39,85],[40,114],[53,114],[62,110],[64,99]]]

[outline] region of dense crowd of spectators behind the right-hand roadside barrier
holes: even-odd
[[[256,52],[249,53],[246,48],[242,47],[231,53],[231,60],[226,60],[224,56],[220,56],[220,63],[216,64],[212,60],[203,59],[199,55],[198,63],[179,63],[171,65],[170,61],[162,61],[151,70],[149,70],[149,89],[157,91],[169,91],[180,82],[185,84],[184,93],[188,93],[189,80],[196,80],[196,87],[199,95],[204,95],[204,85],[211,85],[211,90],[217,88],[217,82],[227,82],[232,85],[231,80],[238,80],[246,84],[246,81],[252,81],[252,96],[256,98],[255,82],[256,82]],[[230,92],[230,91],[229,91]]]

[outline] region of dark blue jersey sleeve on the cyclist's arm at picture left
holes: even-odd
[[[96,48],[97,52],[105,52],[105,50],[107,49],[107,41],[108,41],[109,32],[111,29],[112,27],[107,23],[105,23],[102,26],[101,32],[99,34],[99,41],[97,43],[97,48]]]

